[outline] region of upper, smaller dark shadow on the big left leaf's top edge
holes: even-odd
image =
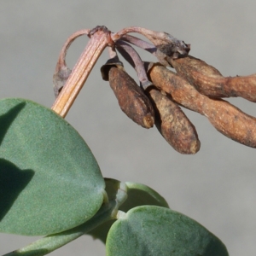
[[[16,116],[20,113],[21,109],[25,107],[25,105],[25,102],[21,102],[14,108],[11,108],[7,113],[4,113],[0,116],[0,145],[3,142],[3,137],[8,131],[9,126],[15,120]]]

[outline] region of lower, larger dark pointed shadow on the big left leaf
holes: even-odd
[[[0,220],[33,176],[34,171],[20,170],[9,160],[0,159]]]

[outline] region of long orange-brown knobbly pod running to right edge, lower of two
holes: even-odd
[[[223,100],[201,95],[189,82],[166,67],[154,66],[148,75],[155,86],[171,94],[175,102],[205,115],[226,137],[256,148],[256,119]]]

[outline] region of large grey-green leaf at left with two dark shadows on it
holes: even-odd
[[[90,148],[66,120],[34,102],[0,101],[0,231],[72,229],[102,206],[104,187]]]

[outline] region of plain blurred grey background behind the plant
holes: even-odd
[[[1,97],[23,97],[51,107],[52,75],[67,37],[82,28],[105,25],[117,32],[143,26],[171,33],[191,44],[190,54],[225,76],[255,73],[256,3],[254,0],[163,1],[1,1]],[[73,67],[88,38],[68,51]],[[145,130],[121,112],[96,64],[67,120],[95,154],[104,177],[145,183],[170,207],[211,230],[230,255],[255,255],[256,151],[216,131],[198,113],[185,110],[201,139],[195,155],[174,151],[154,128]],[[153,60],[142,54],[144,60]],[[134,76],[128,64],[126,69]],[[255,104],[232,99],[256,116]],[[38,237],[0,235],[0,253],[8,253]],[[105,255],[100,241],[83,236],[51,255]]]

